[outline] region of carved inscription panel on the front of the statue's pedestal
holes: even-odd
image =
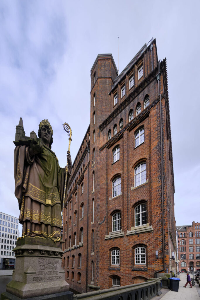
[[[59,274],[59,260],[49,258],[38,258],[37,277],[33,277],[33,281],[61,280]],[[52,276],[49,276],[52,275]]]

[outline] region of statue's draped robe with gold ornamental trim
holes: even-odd
[[[40,236],[56,242],[61,239],[65,170],[46,145],[33,157],[28,149],[29,146],[17,146],[14,150],[15,196],[22,237]]]

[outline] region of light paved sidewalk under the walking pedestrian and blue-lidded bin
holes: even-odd
[[[179,289],[178,292],[170,291],[167,292],[165,295],[160,295],[160,299],[162,300],[199,300],[199,293],[197,289],[199,289],[199,286],[197,285],[195,281],[195,286],[193,286],[192,289],[190,289],[190,285],[183,287],[186,284],[186,278],[187,275],[185,273],[181,273],[179,276],[177,276],[181,279],[179,281]],[[191,277],[191,275],[190,275]],[[163,292],[163,289],[161,289],[161,292]],[[154,298],[156,300],[156,298]]]

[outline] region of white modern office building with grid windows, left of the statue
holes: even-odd
[[[13,269],[15,257],[13,248],[19,237],[18,218],[0,212],[0,269]]]

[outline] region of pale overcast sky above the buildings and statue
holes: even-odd
[[[60,166],[72,128],[74,161],[90,123],[90,70],[99,53],[119,69],[154,37],[167,58],[176,225],[199,222],[200,1],[0,1],[0,211],[19,216],[14,196],[15,128],[52,125]],[[21,230],[20,230],[21,234]]]

